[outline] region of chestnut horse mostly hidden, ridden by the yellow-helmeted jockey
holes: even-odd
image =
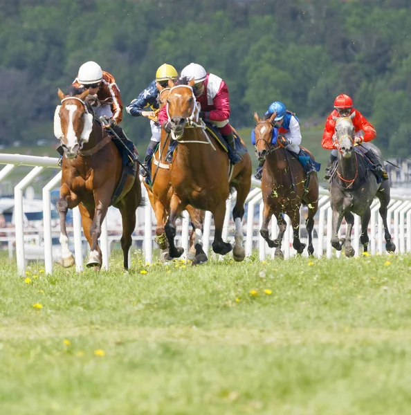
[[[170,93],[170,88],[162,88],[160,84],[157,85],[158,89],[161,89],[158,100],[160,102],[160,107],[163,107],[167,97]],[[156,121],[156,119],[154,119]],[[144,182],[145,188],[147,190],[147,195],[149,196],[149,201],[152,205],[154,213],[156,215],[156,243],[162,250],[161,258],[168,258],[168,241],[165,236],[165,223],[167,222],[168,212],[170,211],[170,200],[172,197],[172,187],[170,182],[170,163],[167,163],[165,160],[165,155],[167,154],[168,145],[170,143],[170,137],[167,137],[165,131],[161,129],[161,142],[158,146],[158,151],[156,151],[152,157],[152,186]],[[157,155],[157,158],[156,158]],[[192,208],[192,206],[187,206],[188,214],[190,218],[194,221],[203,221],[204,212],[201,212],[198,209]],[[195,257],[195,248],[194,248],[194,237],[195,229],[193,225],[193,232],[190,235],[190,251],[188,252],[188,259],[194,259]]]

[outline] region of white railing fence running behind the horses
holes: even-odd
[[[26,271],[26,255],[25,255],[25,239],[28,239],[28,233],[31,233],[30,237],[33,238],[33,230],[24,229],[24,208],[23,208],[23,191],[32,183],[44,169],[57,169],[57,174],[46,183],[42,190],[43,197],[43,229],[44,234],[44,263],[45,272],[51,274],[53,272],[53,245],[52,235],[56,234],[60,229],[52,228],[51,221],[51,191],[55,187],[60,185],[62,172],[57,165],[57,158],[51,157],[37,157],[37,156],[22,156],[19,154],[0,154],[0,164],[6,165],[0,171],[0,183],[11,172],[21,165],[31,166],[33,169],[15,186],[15,246],[17,257],[17,268],[19,275],[24,275]],[[244,233],[245,233],[245,249],[246,256],[249,257],[253,254],[253,249],[257,249],[259,259],[264,260],[267,256],[274,257],[274,249],[268,248],[266,242],[259,235],[259,228],[262,223],[262,192],[260,190],[260,182],[252,178],[252,189],[246,200],[246,218],[244,219]],[[137,213],[143,216],[143,225],[140,225],[136,230],[138,233],[143,232],[143,236],[134,235],[134,240],[142,241],[142,249],[147,263],[153,261],[153,248],[154,248],[154,212],[149,204],[147,191],[144,185],[142,185],[143,196],[147,201],[143,208],[138,208]],[[223,228],[223,239],[233,241],[234,239],[234,224],[230,217],[232,214],[232,207],[235,203],[236,193],[230,195],[227,200],[227,211]],[[370,246],[369,251],[372,254],[376,252],[382,254],[385,252],[384,248],[384,232],[383,223],[381,217],[378,214],[379,201],[374,200],[372,203],[372,215],[369,223],[369,237]],[[143,210],[143,212],[142,212]],[[307,214],[307,208],[301,208],[301,226],[300,234],[305,232],[304,219]],[[360,220],[355,216],[354,230],[352,245],[356,251],[356,255],[360,251]],[[177,239],[180,241],[181,246],[185,248],[185,254],[188,251],[188,235],[190,220],[187,212],[183,212],[183,219],[181,225],[178,228]],[[285,216],[287,223],[287,230],[284,234],[284,240],[282,243],[282,250],[284,252],[284,258],[289,258],[295,255],[295,250],[292,248],[293,232],[290,224],[290,219]],[[387,221],[390,225],[390,231],[392,232],[392,239],[396,243],[397,252],[411,252],[411,197],[402,195],[392,195],[392,201],[390,202],[388,209]],[[343,230],[345,232],[344,225]],[[24,232],[26,231],[26,236]],[[39,230],[41,232],[41,230]],[[271,220],[271,234],[273,237],[277,234],[277,221],[275,218]],[[212,223],[212,214],[206,212],[204,220],[204,234],[203,234],[203,248],[209,254],[210,241],[212,241],[214,234],[214,225]],[[107,221],[104,220],[102,224],[102,234],[100,237],[100,247],[102,249],[102,268],[109,269],[109,256],[111,250],[111,243],[120,239],[120,232],[117,236],[110,236],[107,229]],[[329,242],[331,239],[331,207],[329,202],[328,191],[320,187],[320,200],[319,209],[316,216],[316,224],[313,231],[313,244],[317,257],[326,255],[327,258],[334,255],[334,249]],[[10,253],[10,237],[9,239],[2,238],[0,240],[9,241],[8,249]],[[307,232],[302,235],[302,240],[307,240]],[[74,241],[74,254],[75,254],[75,267],[77,271],[83,270],[83,252],[82,242],[84,237],[82,236],[81,228],[81,216],[80,210],[75,208],[73,210],[73,241]],[[184,254],[184,255],[185,255]],[[304,255],[304,254],[303,254]],[[307,255],[307,253],[305,253]],[[340,257],[340,252],[336,252],[335,255]],[[184,257],[185,258],[185,257]]]

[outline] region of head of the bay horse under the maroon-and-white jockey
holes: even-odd
[[[180,78],[179,84],[171,87],[167,97],[167,116],[176,136],[183,134],[186,124],[191,124],[194,118],[198,119],[199,104],[194,96],[193,86],[194,78],[190,81]]]

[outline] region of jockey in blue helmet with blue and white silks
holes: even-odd
[[[278,129],[277,142],[280,147],[285,148],[293,153],[297,154],[298,160],[304,167],[306,174],[316,172],[315,166],[309,160],[306,154],[303,154],[300,149],[300,143],[302,140],[300,121],[291,111],[287,111],[285,105],[282,102],[275,101],[270,104],[268,110],[264,114],[265,118],[269,118],[276,113],[274,118],[274,127]],[[253,142],[255,145],[255,143]],[[259,162],[255,178],[261,180],[262,168],[265,160]]]

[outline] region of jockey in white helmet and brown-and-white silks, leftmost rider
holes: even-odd
[[[100,118],[100,116],[107,118],[109,120],[109,125],[104,128],[109,129],[109,127],[111,127],[128,149],[130,149],[130,147],[131,149],[134,149],[134,144],[129,141],[122,131],[122,128],[118,125],[122,120],[122,100],[120,89],[118,89],[113,75],[106,71],[102,71],[100,65],[95,62],[89,61],[80,66],[78,75],[73,82],[73,86],[89,89],[89,94],[97,95],[97,98],[100,101],[109,100],[109,104],[102,104],[100,107],[93,108],[95,116],[97,118]],[[62,146],[58,147],[57,151],[60,153],[59,165],[62,165],[62,158],[64,155]],[[134,154],[134,151],[132,151],[132,155],[129,154],[129,156],[132,158],[131,164],[135,163],[138,159],[138,156]]]

